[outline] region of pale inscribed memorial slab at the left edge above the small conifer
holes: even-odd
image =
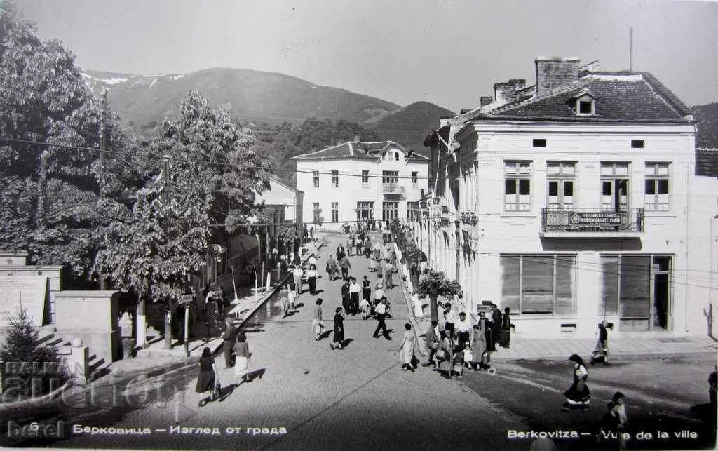
[[[47,276],[0,277],[0,327],[9,326],[21,308],[33,325],[41,326],[46,292]]]

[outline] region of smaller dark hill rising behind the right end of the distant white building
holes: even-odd
[[[424,147],[424,138],[430,131],[439,128],[439,118],[452,116],[451,111],[429,102],[414,102],[393,113],[388,113],[378,121],[365,125],[376,131],[381,139],[391,139],[420,154],[431,152]]]

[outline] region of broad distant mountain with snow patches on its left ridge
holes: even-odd
[[[125,125],[139,132],[153,129],[164,116],[176,114],[177,103],[190,90],[199,91],[210,106],[222,106],[243,124],[298,124],[310,117],[363,122],[401,108],[348,90],[258,70],[213,68],[175,75],[87,70],[83,78],[95,95],[108,88],[113,111]]]

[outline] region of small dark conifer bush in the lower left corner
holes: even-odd
[[[0,361],[6,370],[5,390],[22,396],[40,396],[68,380],[65,361],[57,349],[39,343],[39,331],[25,310],[10,319]]]

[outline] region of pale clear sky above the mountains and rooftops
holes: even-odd
[[[647,71],[718,101],[718,3],[667,0],[16,0],[86,70],[246,68],[408,105],[473,108],[537,56]]]

